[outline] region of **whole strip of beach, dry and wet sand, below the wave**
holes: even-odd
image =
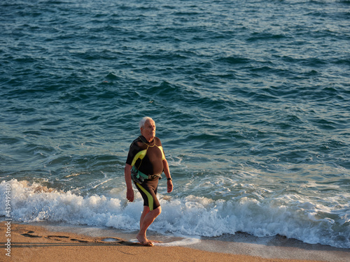
[[[1,221],[0,242],[6,247],[6,221]],[[149,233],[160,241],[142,247],[132,233],[111,228],[67,226],[61,224],[10,223],[10,257],[5,248],[3,261],[350,261],[350,249],[322,245],[293,244],[286,239],[258,238],[247,234],[228,238],[186,239]],[[156,254],[156,255],[155,255]]]

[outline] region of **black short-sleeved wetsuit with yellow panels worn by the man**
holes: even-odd
[[[144,205],[148,206],[151,211],[160,207],[156,194],[158,180],[163,172],[164,159],[162,143],[157,137],[153,138],[151,143],[148,143],[144,136],[139,136],[132,142],[127,154],[126,163],[149,177],[141,184],[135,182],[135,185],[142,198],[144,198]]]

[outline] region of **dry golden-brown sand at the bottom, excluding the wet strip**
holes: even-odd
[[[6,237],[8,233],[10,236]],[[202,247],[206,248],[208,243]],[[330,256],[322,255],[324,259],[321,260],[262,258],[189,247],[142,247],[136,242],[109,235],[91,237],[88,234],[49,231],[43,226],[28,224],[11,223],[9,226],[5,221],[1,221],[1,245],[5,248],[1,249],[0,261],[349,261],[346,260],[348,250],[325,251]]]

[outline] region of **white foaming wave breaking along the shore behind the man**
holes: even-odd
[[[127,203],[122,191],[119,195],[114,191],[114,197],[79,196],[18,180],[1,182],[2,192],[6,183],[11,184],[12,217],[17,221],[64,221],[131,231],[139,228],[143,206],[140,197],[134,203]],[[330,210],[292,195],[265,202],[248,197],[231,201],[196,196],[160,195],[159,198],[162,214],[150,229],[160,233],[193,235],[196,239],[241,231],[255,236],[286,235],[307,243],[350,248],[349,205]],[[6,214],[4,207],[5,201],[1,198],[2,216]],[[186,245],[193,239],[175,244]]]

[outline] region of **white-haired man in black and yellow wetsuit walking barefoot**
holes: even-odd
[[[155,136],[155,122],[151,117],[144,117],[139,124],[141,136],[130,145],[124,175],[127,184],[127,200],[134,201],[132,180],[144,198],[144,211],[140,218],[140,231],[137,240],[141,245],[153,246],[153,242],[146,237],[146,231],[156,217],[162,212],[156,196],[158,180],[164,171],[167,177],[167,192],[173,190],[169,165],[162,149],[160,139]]]

